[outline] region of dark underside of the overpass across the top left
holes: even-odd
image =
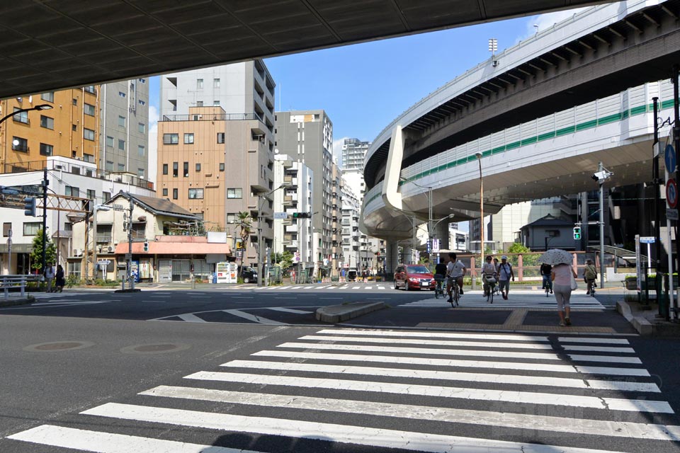
[[[611,0],[0,2],[0,98]]]

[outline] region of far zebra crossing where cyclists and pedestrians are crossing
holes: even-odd
[[[459,306],[469,308],[507,308],[507,309],[555,309],[557,302],[555,297],[550,294],[550,297],[545,297],[543,291],[529,291],[529,290],[511,290],[507,300],[501,296],[494,296],[494,303],[487,302],[486,297],[482,297],[481,291],[465,291],[463,297],[460,298]],[[601,304],[595,297],[587,296],[584,291],[572,292],[570,299],[572,309],[596,309],[604,310],[607,307]],[[419,301],[409,302],[399,306],[405,307],[420,307],[420,308],[437,308],[448,307],[451,304],[447,302],[446,297],[437,299],[436,297],[429,297]]]

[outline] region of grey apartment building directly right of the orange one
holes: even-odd
[[[149,178],[149,81],[102,85],[98,168]],[[154,175],[155,176],[155,175]]]

